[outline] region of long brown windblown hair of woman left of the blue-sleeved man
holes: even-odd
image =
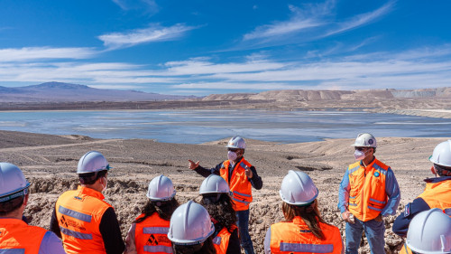
[[[286,221],[293,221],[294,217],[299,216],[307,224],[308,229],[311,230],[318,239],[325,240],[319,222],[328,223],[324,221],[319,214],[317,200],[306,206],[297,206],[282,202],[282,212]]]

